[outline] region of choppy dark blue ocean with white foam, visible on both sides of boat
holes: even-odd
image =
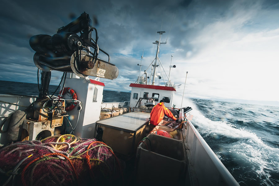
[[[56,87],[49,87],[50,94]],[[0,94],[8,93],[38,95],[38,86],[0,81]],[[130,95],[104,91],[103,102]],[[279,185],[279,107],[202,99],[184,105],[193,108],[193,125],[241,186]]]

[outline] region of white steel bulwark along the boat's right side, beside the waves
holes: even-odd
[[[195,167],[199,185],[239,186],[190,121],[187,122],[185,142],[190,152],[188,161]]]

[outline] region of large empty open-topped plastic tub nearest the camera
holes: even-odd
[[[184,185],[186,156],[179,140],[149,134],[137,148],[136,182],[154,185]],[[174,176],[174,177],[173,177]]]

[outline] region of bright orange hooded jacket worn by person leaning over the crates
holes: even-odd
[[[170,110],[165,107],[164,103],[158,103],[153,107],[150,113],[150,124],[157,126],[162,121],[165,114],[171,119],[176,120]]]

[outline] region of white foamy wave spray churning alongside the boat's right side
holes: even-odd
[[[181,106],[179,100],[182,95],[175,95],[174,104],[177,107]],[[190,106],[193,110],[190,112],[193,117],[193,124],[198,126],[198,131],[202,136],[212,136],[215,140],[220,140],[217,136],[226,136],[233,140],[233,143],[224,142],[223,147],[219,147],[216,155],[222,160],[222,154],[230,154],[230,157],[235,158],[235,161],[248,162],[249,167],[246,171],[253,171],[264,185],[276,185],[269,178],[270,172],[278,172],[279,174],[279,149],[272,148],[263,141],[255,133],[246,130],[245,128],[237,128],[230,122],[212,121],[206,118],[194,104],[193,101],[184,97],[183,106]],[[213,105],[212,105],[213,106]],[[213,106],[214,107],[214,106]],[[223,109],[223,108],[222,108]],[[235,118],[241,119],[241,118]],[[236,141],[236,142],[235,142]],[[218,141],[222,144],[222,141]],[[210,145],[210,144],[209,144]],[[237,169],[237,167],[235,167]],[[235,168],[232,168],[235,169]],[[251,179],[251,178],[249,178]],[[279,180],[277,180],[278,182]],[[244,181],[245,183],[245,181]]]

